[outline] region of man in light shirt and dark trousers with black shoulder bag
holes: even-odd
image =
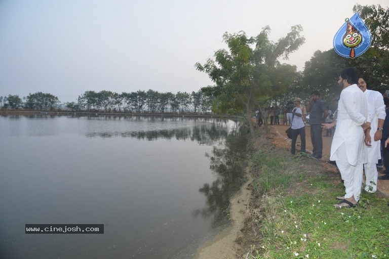
[[[291,121],[292,128],[292,144],[290,152],[292,155],[296,154],[296,141],[298,135],[300,135],[300,152],[305,153],[305,124],[302,121],[302,111],[300,108],[296,107],[292,110],[292,112],[287,113],[287,116],[288,120]]]

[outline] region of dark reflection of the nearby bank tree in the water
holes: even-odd
[[[224,147],[214,147],[210,158],[210,168],[217,179],[210,185],[204,184],[200,192],[207,197],[207,206],[193,211],[197,217],[213,217],[213,227],[229,222],[229,199],[236,194],[245,182],[245,158],[247,137],[245,134],[228,135]]]

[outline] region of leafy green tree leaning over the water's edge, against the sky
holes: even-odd
[[[293,69],[280,64],[278,59],[288,59],[289,54],[305,40],[300,36],[300,25],[292,26],[291,31],[277,42],[268,39],[269,31],[270,27],[266,26],[256,37],[248,37],[243,31],[238,34],[225,33],[223,41],[229,50],[216,51],[215,60],[208,59],[204,65],[196,63],[196,68],[206,72],[216,83],[203,91],[217,98],[214,105],[219,109],[246,113],[252,137],[254,126],[251,111],[254,101],[263,96],[271,98],[279,91],[286,92],[288,83],[278,80],[276,74],[286,70],[289,73]],[[272,91],[273,88],[277,90]]]

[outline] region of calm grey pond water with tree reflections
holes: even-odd
[[[192,258],[229,222],[245,150],[231,120],[1,116],[0,258]]]

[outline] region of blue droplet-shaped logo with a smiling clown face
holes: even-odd
[[[371,33],[358,13],[345,23],[336,32],[334,37],[334,50],[345,58],[361,56],[371,44]]]

